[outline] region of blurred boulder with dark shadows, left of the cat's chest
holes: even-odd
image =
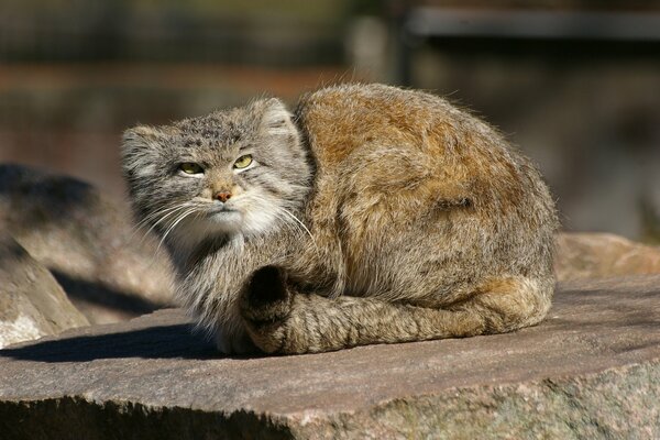
[[[170,304],[172,270],[127,206],[70,177],[0,165],[0,230],[45,265],[92,322]]]

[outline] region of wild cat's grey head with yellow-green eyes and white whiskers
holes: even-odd
[[[128,130],[123,170],[140,220],[166,242],[262,234],[295,221],[311,166],[277,99]]]

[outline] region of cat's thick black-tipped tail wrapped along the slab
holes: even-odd
[[[280,354],[507,332],[539,322],[550,304],[542,283],[525,277],[488,280],[449,309],[295,293],[273,266],[246,287],[240,311],[248,334],[262,351]]]

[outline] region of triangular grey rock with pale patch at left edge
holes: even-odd
[[[0,231],[0,349],[88,324],[53,275]]]

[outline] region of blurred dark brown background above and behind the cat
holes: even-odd
[[[659,1],[2,0],[0,162],[121,199],[125,128],[351,80],[498,127],[564,229],[660,241]]]

